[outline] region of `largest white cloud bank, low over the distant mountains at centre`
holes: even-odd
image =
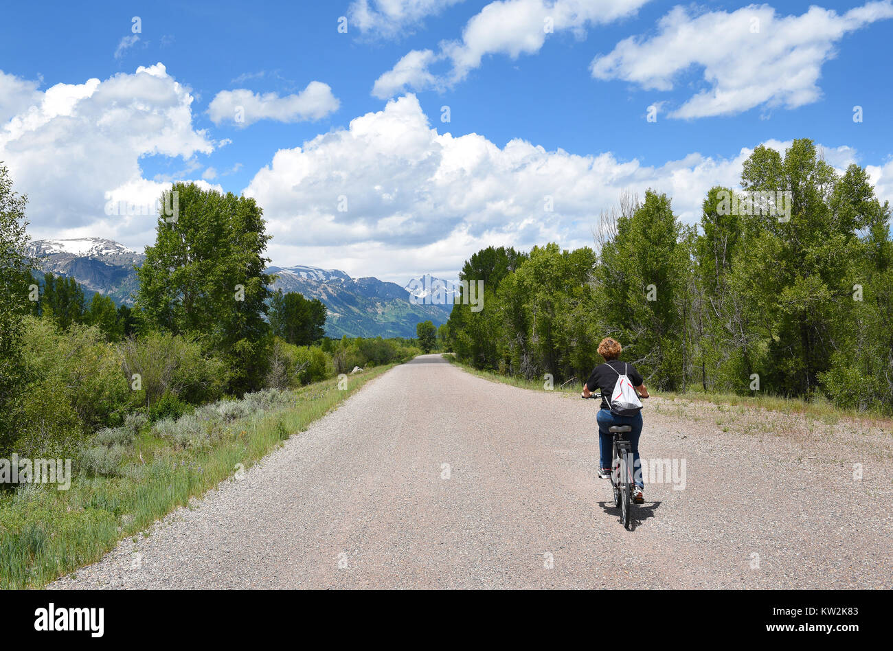
[[[782,152],[790,145],[764,144]],[[591,246],[598,214],[625,189],[639,196],[647,188],[666,192],[684,221],[697,222],[707,189],[735,187],[752,151],[742,148],[729,159],[689,154],[647,166],[611,153],[550,152],[522,139],[500,148],[478,134],[431,129],[409,95],[347,129],[281,149],[245,194],[263,206],[276,263],[405,281],[421,271],[455,275],[489,245]],[[846,146],[823,151],[840,169],[855,160]],[[346,212],[338,211],[342,196]],[[553,197],[552,213],[544,210],[546,196]],[[438,270],[430,269],[432,261]]]

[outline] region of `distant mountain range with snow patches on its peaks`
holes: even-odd
[[[146,255],[104,238],[40,239],[30,244],[31,255],[41,258],[43,271],[77,280],[88,298],[93,293],[110,296],[118,305],[133,305],[139,288],[135,267]],[[452,284],[426,274],[410,280],[405,287],[374,277],[351,278],[344,271],[305,265],[271,266],[275,274],[272,290],[298,292],[317,298],[326,305],[326,335],[347,337],[415,337],[419,321],[445,323],[453,305],[431,303],[431,288],[451,288]],[[442,291],[448,297],[452,293]],[[444,301],[440,301],[444,303]]]

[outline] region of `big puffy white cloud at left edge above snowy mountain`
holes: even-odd
[[[36,238],[102,235],[142,246],[154,217],[105,212],[109,201],[152,204],[161,194],[165,184],[143,178],[140,157],[188,163],[213,150],[204,130],[192,126],[190,89],[162,63],[44,92],[35,92],[33,82],[18,86],[25,88],[20,100],[29,101],[0,121],[0,160],[16,191],[29,196],[29,231]]]

